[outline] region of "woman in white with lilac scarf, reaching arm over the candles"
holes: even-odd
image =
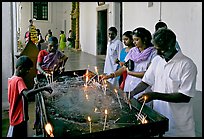
[[[131,92],[135,88],[135,86],[137,86],[137,84],[141,81],[152,59],[156,56],[156,49],[151,44],[151,39],[151,33],[147,29],[139,27],[133,30],[133,43],[135,44],[135,47],[131,48],[127,56],[125,57],[126,63],[129,60],[133,61],[133,70],[130,71],[126,66],[123,66],[114,73],[105,75],[102,78],[115,78],[121,76],[124,71],[127,71],[124,92]],[[138,96],[135,95],[134,98],[137,99]]]

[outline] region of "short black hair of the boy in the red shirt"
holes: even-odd
[[[33,67],[33,61],[28,56],[20,56],[16,61],[16,68],[20,66],[31,68]]]

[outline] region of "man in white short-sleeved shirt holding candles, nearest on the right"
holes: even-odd
[[[131,92],[131,98],[152,86],[152,92],[139,96],[138,101],[153,101],[153,109],[169,119],[164,136],[195,137],[191,98],[195,96],[197,67],[181,51],[176,50],[176,35],[170,29],[159,29],[152,43],[157,54],[142,81]]]

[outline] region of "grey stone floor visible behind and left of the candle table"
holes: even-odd
[[[74,49],[66,49],[65,54],[69,57],[65,64],[66,71],[89,69],[95,72],[95,66],[98,68],[99,74],[103,73],[105,56],[94,56],[82,51]],[[2,137],[6,137],[9,119],[8,119],[8,102],[2,102]],[[35,102],[29,102],[29,121],[28,121],[28,136],[33,137],[35,131],[33,130],[33,123],[35,119]]]

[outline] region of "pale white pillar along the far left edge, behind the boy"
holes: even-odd
[[[13,74],[12,2],[2,2],[2,107],[8,107],[8,78]],[[8,39],[9,38],[9,39]],[[5,82],[6,81],[6,82]],[[5,103],[4,103],[5,102]]]

